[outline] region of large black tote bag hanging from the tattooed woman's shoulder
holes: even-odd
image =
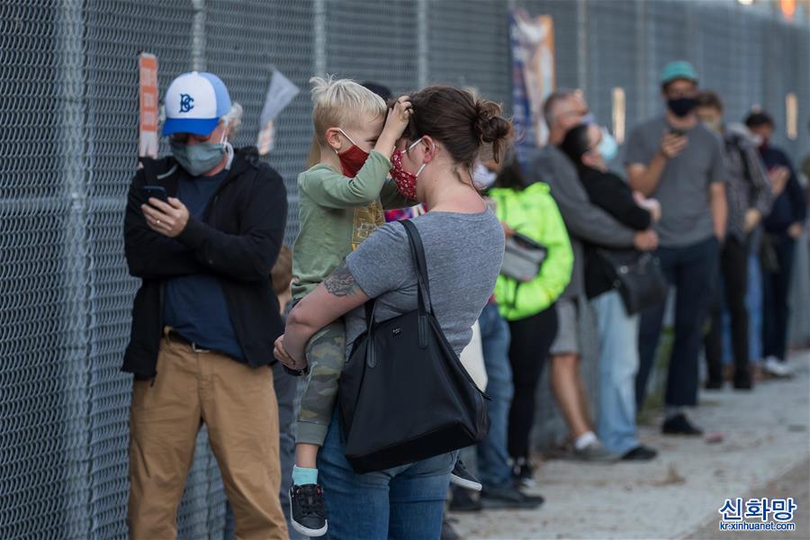
[[[473,446],[490,429],[485,399],[433,313],[419,231],[408,232],[418,276],[418,308],[374,319],[357,338],[338,382],[346,457],[356,473],[382,471]]]

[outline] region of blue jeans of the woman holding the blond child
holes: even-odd
[[[338,410],[318,454],[326,500],[326,538],[421,540],[442,532],[450,471],[457,452],[378,473],[356,474],[346,459]]]

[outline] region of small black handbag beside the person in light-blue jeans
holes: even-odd
[[[649,251],[598,249],[610,267],[610,279],[625,303],[628,315],[653,308],[667,300],[670,284],[661,262]]]

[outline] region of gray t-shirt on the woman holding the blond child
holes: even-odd
[[[495,288],[503,262],[503,229],[491,210],[476,214],[430,211],[413,220],[425,247],[433,309],[457,354]],[[346,258],[363,292],[377,299],[376,320],[417,308],[417,275],[401,223],[388,223]],[[347,350],[365,331],[365,311],[347,314]]]

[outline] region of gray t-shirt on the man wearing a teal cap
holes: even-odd
[[[625,163],[648,165],[669,129],[665,117],[637,126],[627,140]],[[697,244],[714,234],[709,184],[726,181],[723,146],[717,134],[698,123],[686,137],[686,148],[667,161],[652,194],[661,202],[661,220],[655,230],[663,247]]]

